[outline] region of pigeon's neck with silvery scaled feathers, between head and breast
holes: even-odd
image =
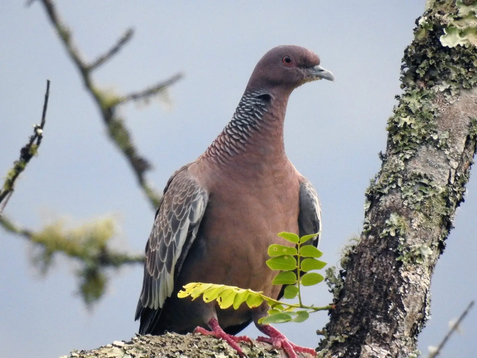
[[[263,89],[246,91],[232,119],[203,156],[237,165],[286,159],[283,123],[288,96]]]

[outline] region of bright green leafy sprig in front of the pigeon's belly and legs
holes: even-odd
[[[295,243],[296,246],[272,244],[268,248],[268,254],[271,258],[267,260],[267,265],[272,270],[281,271],[274,277],[272,284],[285,284],[283,297],[293,299],[298,296],[297,304],[280,302],[263,295],[262,291],[256,292],[224,284],[203,284],[200,282],[186,284],[177,296],[179,298],[191,296],[194,300],[202,295],[204,302],[208,303],[216,300],[218,306],[222,309],[230,306],[238,309],[244,302],[250,308],[253,308],[266,301],[271,307],[268,311],[269,316],[260,318],[260,324],[303,322],[310,316],[311,312],[333,308],[332,305],[315,307],[314,305],[303,305],[301,302],[301,285],[312,286],[319,284],[324,279],[321,274],[310,272],[321,270],[326,265],[325,262],[317,260],[323,253],[313,245],[306,244],[317,235],[299,237],[291,232],[280,232],[278,236],[288,242]]]

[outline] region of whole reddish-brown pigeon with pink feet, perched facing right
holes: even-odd
[[[321,78],[334,80],[319,64],[315,53],[299,46],[279,46],[266,53],[232,120],[204,154],[167,182],[145,248],[136,310],[141,334],[187,333],[197,326],[207,334],[205,328],[210,328],[243,355],[236,344],[240,339],[229,335],[253,320],[290,357],[301,349],[273,327],[258,324],[266,315],[265,305],[221,310],[201,299],[179,299],[177,292],[189,282],[203,282],[250,288],[277,298],[281,288],[271,284],[276,272],[265,263],[268,246],[287,244],[278,232],[321,231],[316,191],[291,164],[283,145],[285,111],[293,89]]]

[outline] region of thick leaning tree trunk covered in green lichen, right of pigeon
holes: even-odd
[[[404,52],[403,94],[366,191],[360,241],[330,284],[320,357],[416,357],[437,259],[464,201],[477,143],[477,4],[435,0]],[[342,285],[342,288],[339,287]]]

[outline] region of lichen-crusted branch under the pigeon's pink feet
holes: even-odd
[[[240,343],[249,358],[288,358],[282,349],[274,349],[267,343],[253,341],[253,346]],[[211,336],[166,333],[164,336],[136,336],[130,341],[115,341],[92,350],[75,350],[60,358],[152,358],[152,357],[194,357],[232,358],[238,357],[227,342]],[[299,358],[309,355],[298,353]]]

